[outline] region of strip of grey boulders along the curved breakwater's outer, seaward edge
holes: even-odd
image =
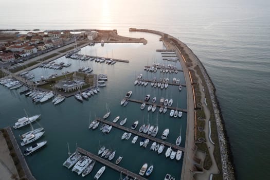
[[[193,53],[193,51],[186,44],[185,46]],[[205,79],[205,82],[207,84],[212,106],[213,106],[214,117],[215,117],[215,122],[217,124],[217,132],[218,132],[219,143],[220,143],[220,155],[221,155],[223,179],[236,179],[235,169],[232,163],[233,160],[232,160],[229,140],[226,134],[226,129],[224,127],[224,120],[222,117],[219,101],[217,99],[217,96],[215,95],[216,89],[209,75],[207,74],[207,71],[205,67],[203,66],[202,62],[199,60],[199,58],[197,58],[197,56],[194,53],[193,55],[196,57],[197,64],[199,65],[201,72],[204,76],[203,78]]]

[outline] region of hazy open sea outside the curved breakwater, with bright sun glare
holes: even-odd
[[[117,29],[120,35],[147,37],[128,32],[135,27],[179,38],[203,62],[217,88],[237,178],[266,179],[269,9],[269,1],[5,1],[0,29]],[[10,107],[16,107],[12,102]]]

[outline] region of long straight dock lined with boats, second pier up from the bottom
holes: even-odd
[[[120,129],[120,130],[123,130],[125,132],[129,132],[129,133],[135,134],[135,135],[140,136],[140,137],[145,137],[145,138],[147,138],[147,139],[149,139],[151,141],[156,141],[157,143],[163,144],[164,146],[171,147],[171,148],[176,149],[176,150],[181,150],[183,152],[185,151],[185,148],[183,148],[183,147],[179,147],[179,146],[174,145],[173,143],[170,143],[170,142],[155,138],[153,136],[149,136],[147,134],[140,133],[138,131],[126,128],[126,127],[124,127],[122,125],[119,125],[117,123],[113,123],[111,121],[107,121],[107,120],[104,120],[104,119],[101,119],[101,118],[96,118],[96,120],[98,120],[100,122],[103,122],[105,124],[112,125],[113,127],[117,128],[117,129]]]

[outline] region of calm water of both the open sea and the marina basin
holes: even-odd
[[[140,111],[139,104],[119,105],[127,91],[133,91],[133,98],[141,99],[145,94],[173,97],[179,107],[186,107],[185,89],[181,93],[169,87],[167,91],[154,91],[150,86],[134,86],[134,78],[142,73],[153,78],[153,74],[143,71],[143,66],[154,61],[160,62],[157,48],[164,48],[156,35],[130,33],[128,28],[148,28],[167,32],[186,43],[205,65],[215,87],[222,108],[226,130],[230,139],[233,159],[238,179],[266,179],[269,177],[269,100],[270,100],[270,2],[269,1],[5,1],[1,3],[0,29],[117,29],[120,35],[145,37],[147,45],[141,44],[98,44],[85,47],[81,53],[130,60],[129,64],[116,63],[113,66],[91,62],[57,61],[72,63],[69,70],[83,65],[91,65],[94,73],[108,74],[107,86],[99,95],[83,103],[73,97],[53,106],[51,103],[35,105],[29,98],[16,91],[0,87],[1,127],[12,125],[14,118],[29,114],[42,114],[39,121],[45,128],[43,140],[48,140],[46,148],[27,157],[30,169],[38,179],[80,179],[75,173],[62,167],[67,157],[66,142],[74,151],[79,147],[96,153],[99,143],[117,150],[123,155],[121,166],[138,172],[143,163],[155,166],[150,179],[163,179],[169,172],[177,178],[181,176],[182,161],[176,163],[157,155],[148,149],[121,141],[122,132],[114,129],[109,135],[98,130],[88,131],[89,111],[92,117],[102,116],[105,103],[115,116],[127,116],[130,126],[135,119],[142,123],[148,119],[146,111]],[[177,64],[179,66],[179,63]],[[180,68],[180,67],[179,67]],[[51,73],[46,69],[35,69],[39,78]],[[159,73],[155,76],[159,78]],[[183,74],[177,74],[185,83]],[[172,77],[168,77],[172,79]],[[156,123],[156,114],[149,113],[150,123]],[[37,125],[37,124],[35,124]],[[160,131],[170,128],[168,141],[174,142],[182,125],[182,139],[185,138],[186,114],[181,120],[158,114]],[[27,128],[14,131],[20,134]],[[100,141],[100,142],[99,142]],[[184,142],[182,142],[184,145]],[[94,172],[101,165],[95,167]],[[259,172],[259,173],[256,173]],[[93,176],[94,173],[92,173]],[[118,179],[119,173],[106,169],[101,179]]]

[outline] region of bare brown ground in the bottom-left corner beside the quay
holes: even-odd
[[[0,133],[0,147],[0,180],[15,179],[11,178],[13,174],[19,177],[13,160],[9,155],[9,149],[2,133]]]

